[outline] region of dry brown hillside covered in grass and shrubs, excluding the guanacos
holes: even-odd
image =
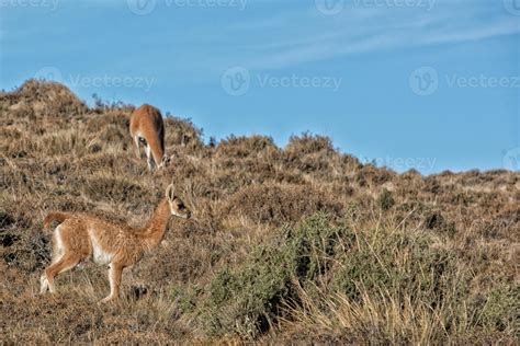
[[[205,146],[179,118],[149,173],[132,109],[34,80],[0,94],[2,342],[518,342],[520,173],[396,174],[307,134]],[[46,212],[142,226],[170,182],[194,218],[124,272],[120,301],[95,304],[91,263],[38,295]]]

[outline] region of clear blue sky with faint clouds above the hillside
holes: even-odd
[[[520,0],[0,0],[0,89],[305,130],[396,171],[520,168]]]

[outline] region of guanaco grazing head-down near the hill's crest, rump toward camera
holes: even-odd
[[[169,163],[165,154],[165,123],[160,111],[144,104],[132,113],[129,131],[135,143],[137,159],[140,159],[140,145],[145,146],[148,169],[160,169]]]

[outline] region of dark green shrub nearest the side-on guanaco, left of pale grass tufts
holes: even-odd
[[[255,338],[265,332],[283,314],[282,303],[296,298],[296,281],[305,285],[328,270],[323,260],[334,256],[341,231],[319,214],[258,246],[237,269],[221,270],[205,307],[208,333]]]

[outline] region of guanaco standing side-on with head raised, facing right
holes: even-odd
[[[173,185],[166,189],[146,227],[135,229],[124,223],[111,222],[83,212],[50,212],[44,220],[48,228],[60,222],[53,234],[53,261],[41,277],[41,293],[55,292],[54,278],[91,258],[98,265],[109,265],[110,295],[101,300],[116,299],[121,275],[125,267],[136,264],[163,239],[170,216],[189,219],[190,210],[176,194]]]

